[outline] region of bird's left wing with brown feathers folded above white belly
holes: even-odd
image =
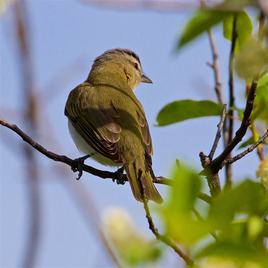
[[[116,163],[125,162],[117,150],[121,132],[117,118],[120,116],[112,104],[102,107],[88,103],[67,102],[65,115],[95,151]]]

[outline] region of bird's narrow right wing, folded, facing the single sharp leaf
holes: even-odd
[[[153,174],[152,158],[151,158],[151,155],[153,154],[153,149],[152,149],[152,140],[151,140],[148,122],[146,118],[143,115],[141,115],[139,112],[137,112],[137,117],[138,117],[140,128],[142,130],[143,146],[145,149],[145,167],[147,171]],[[151,176],[154,177],[154,175],[152,174]]]

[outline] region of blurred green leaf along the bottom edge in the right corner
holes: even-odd
[[[228,240],[215,242],[207,246],[196,257],[207,256],[233,260],[238,267],[255,267],[256,264],[267,267],[268,263],[268,252],[265,246],[256,247],[250,243],[234,243]]]

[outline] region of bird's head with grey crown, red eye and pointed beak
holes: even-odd
[[[111,73],[122,77],[132,90],[142,82],[152,83],[142,71],[139,56],[129,49],[109,49],[97,57],[92,65],[91,74]]]

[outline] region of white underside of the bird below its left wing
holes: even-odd
[[[76,131],[76,129],[73,127],[70,120],[68,120],[68,128],[70,135],[75,142],[75,145],[79,152],[83,155],[91,155],[91,159],[95,160],[98,163],[101,163],[104,166],[110,166],[110,167],[120,167],[122,165],[115,163],[111,159],[99,154],[96,152]]]

